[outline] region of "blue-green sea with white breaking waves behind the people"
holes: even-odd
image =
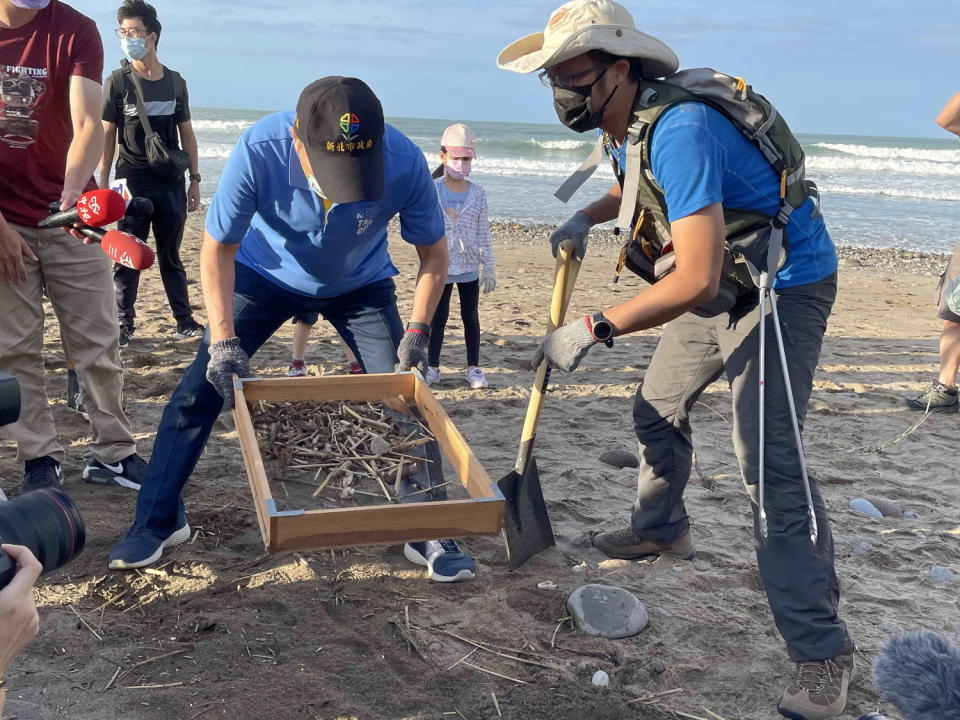
[[[213,195],[240,133],[266,113],[194,108],[201,192]],[[388,118],[438,164],[440,136],[456,120]],[[470,122],[479,138],[472,180],[487,190],[493,220],[557,223],[603,194],[613,174],[601,166],[564,205],[553,197],[594,140],[559,123]],[[824,218],[838,244],[949,252],[960,243],[960,144],[944,139],[799,135],[807,176],[822,193]]]

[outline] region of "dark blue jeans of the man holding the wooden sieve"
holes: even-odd
[[[393,372],[403,336],[393,280],[379,280],[346,295],[310,298],[270,282],[236,264],[234,332],[250,357],[294,315],[320,313],[340,334],[365,372]],[[209,330],[197,357],[163,411],[153,454],[137,499],[134,529],[167,533],[180,527],[181,493],[223,408],[223,398],[207,382]]]

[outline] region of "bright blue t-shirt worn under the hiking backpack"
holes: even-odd
[[[755,210],[773,216],[780,207],[780,178],[753,143],[719,111],[700,102],[667,110],[653,129],[650,165],[663,188],[670,222],[707,205]],[[620,149],[623,162],[623,148]],[[808,198],[787,225],[789,253],[776,287],[822,280],[837,269],[837,253]]]

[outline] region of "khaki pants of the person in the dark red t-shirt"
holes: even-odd
[[[0,370],[20,382],[20,419],[0,432],[17,441],[20,461],[64,457],[47,403],[43,372],[43,289],[60,322],[60,334],[77,369],[93,431],[92,450],[116,463],[136,452],[123,412],[123,369],[113,289],[113,266],[96,245],[84,245],[61,229],[19,225],[40,262],[24,258],[27,281],[0,282]]]

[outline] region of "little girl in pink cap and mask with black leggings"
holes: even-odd
[[[440,161],[434,182],[446,219],[450,267],[447,286],[434,313],[430,331],[427,384],[440,378],[440,350],[450,315],[453,286],[460,295],[460,318],[467,346],[467,382],[472,388],[487,387],[480,369],[480,291],[493,292],[497,276],[493,262],[493,243],[487,221],[487,194],[467,180],[470,164],[476,157],[477,136],[462,123],[451,125],[440,141]]]

